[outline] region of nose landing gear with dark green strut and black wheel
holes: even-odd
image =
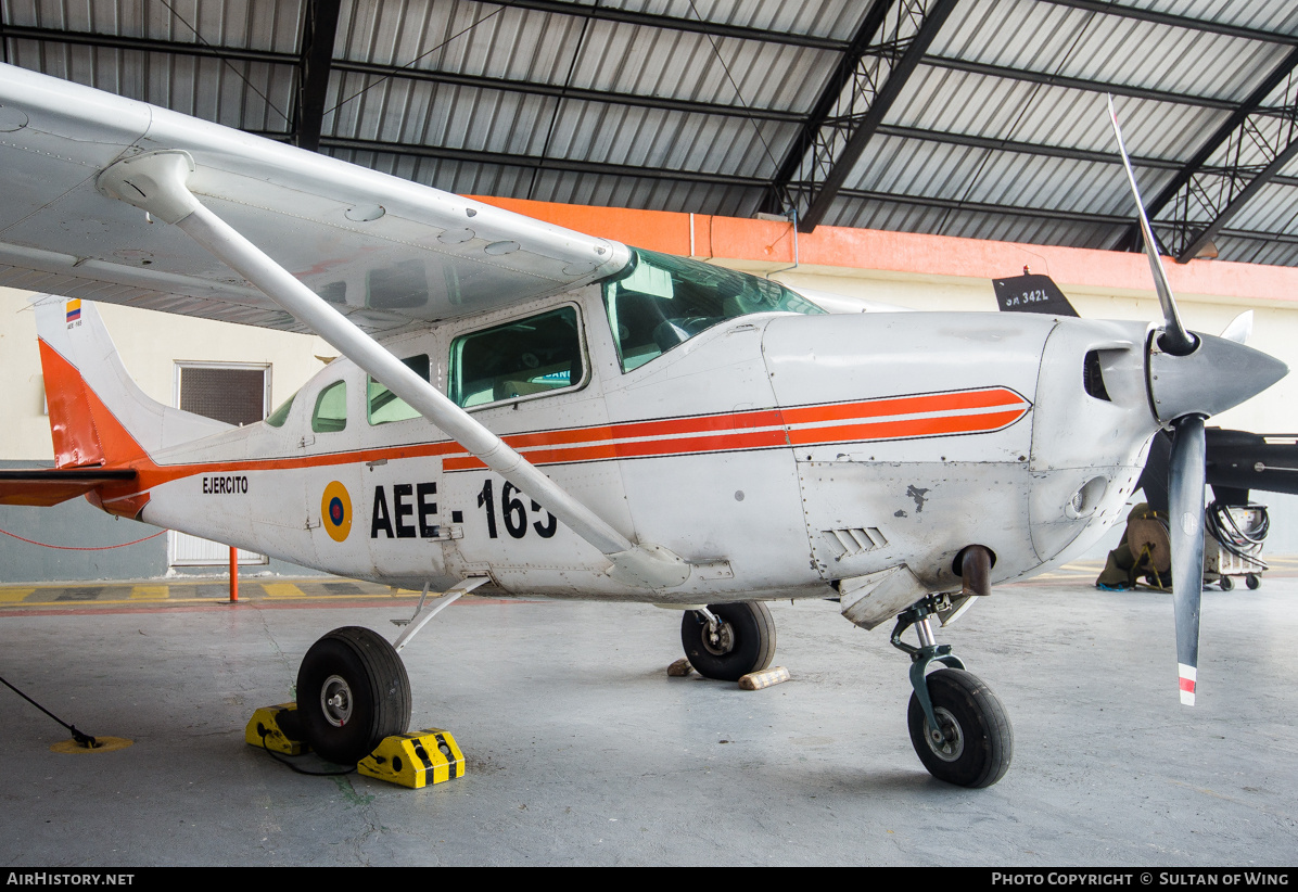
[[[910,741],[928,773],[961,787],[990,787],[1010,767],[1014,728],[992,689],[951,654],[951,645],[937,644],[929,617],[945,596],[929,596],[897,617],[892,645],[910,654],[910,686],[914,693],[906,712]],[[911,626],[919,647],[901,640]],[[928,673],[931,663],[946,669]]]

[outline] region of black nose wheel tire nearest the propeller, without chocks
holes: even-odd
[[[941,669],[925,679],[933,712],[954,737],[932,741],[919,697],[910,695],[910,743],[928,773],[959,787],[990,787],[1010,767],[1014,728],[1005,706],[983,680],[963,669]],[[949,735],[950,736],[950,735]]]

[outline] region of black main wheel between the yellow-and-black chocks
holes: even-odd
[[[410,676],[387,639],[335,628],[297,670],[297,714],[306,743],[336,765],[356,765],[379,741],[410,727]]]

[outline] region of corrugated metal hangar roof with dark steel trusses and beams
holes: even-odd
[[[1298,265],[1290,0],[0,0],[0,58],[448,191]]]

